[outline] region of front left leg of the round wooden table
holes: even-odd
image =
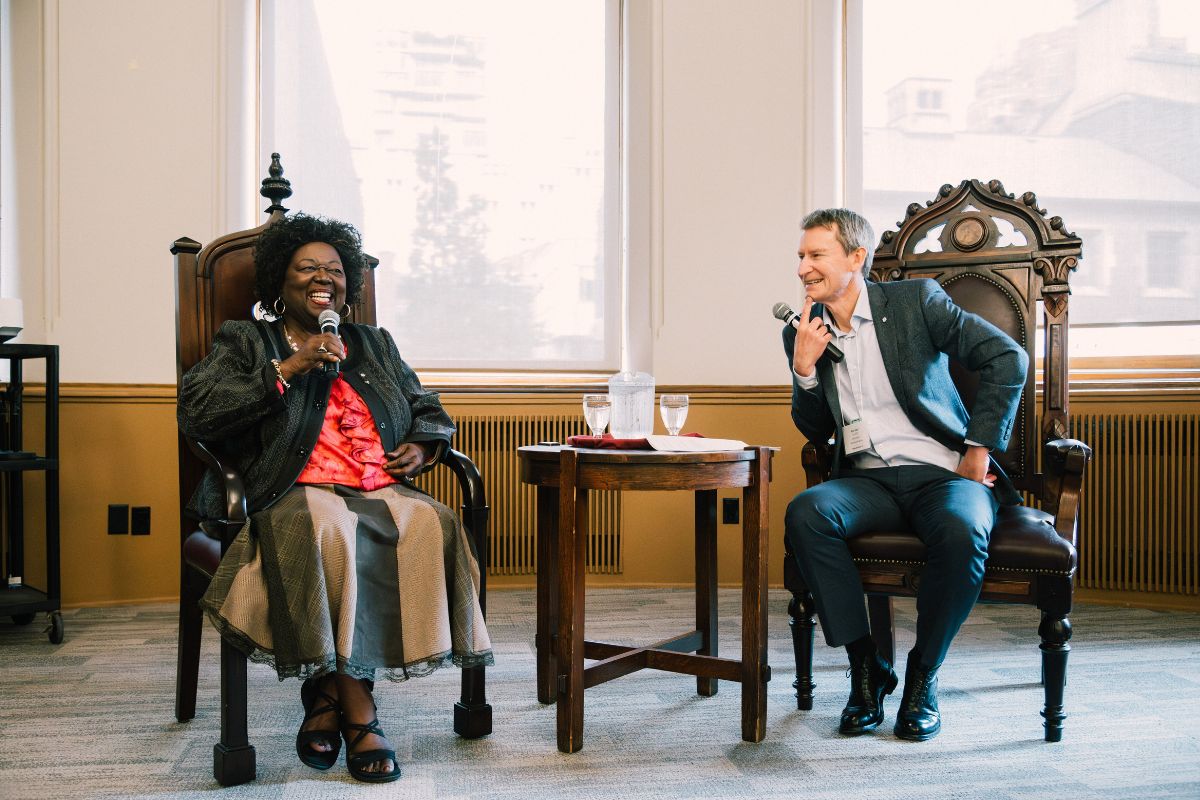
[[[583,746],[583,554],[587,489],[576,488],[576,453],[564,449],[558,481],[558,748]]]

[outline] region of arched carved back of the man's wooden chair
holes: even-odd
[[[896,230],[886,231],[875,252],[871,279],[934,278],[964,309],[992,323],[1025,349],[1030,374],[1008,449],[995,453],[1018,489],[1042,494],[1038,455],[1046,440],[1066,435],[1068,275],[1082,243],[1046,219],[1037,198],[1020,199],[1000,181],[947,184],[924,206],[908,206]],[[1036,425],[1036,320],[1044,314],[1043,423]],[[950,374],[967,409],[978,377],[952,361]]]

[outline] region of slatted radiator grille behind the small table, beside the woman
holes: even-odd
[[[539,441],[566,441],[587,433],[582,417],[479,415],[456,416],[458,433],[454,446],[467,453],[484,476],[488,519],[488,575],[534,575],[536,572],[535,489],[521,482],[517,447]],[[454,474],[436,469],[418,483],[451,509],[462,495]],[[590,492],[588,506],[587,569],[592,573],[622,572],[620,492]]]

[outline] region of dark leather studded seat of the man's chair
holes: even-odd
[[[872,531],[850,540],[856,561],[925,563],[925,545],[908,531]],[[1054,517],[1026,506],[1002,506],[988,547],[989,570],[1072,575],[1074,546],[1054,529]]]

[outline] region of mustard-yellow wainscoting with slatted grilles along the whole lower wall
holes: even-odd
[[[688,431],[781,447],[772,470],[769,572],[772,583],[780,585],[784,510],[804,487],[799,464],[803,439],[788,419],[790,392],[785,387],[665,389],[691,395]],[[455,387],[443,392],[446,408],[464,422],[463,437],[456,444],[479,461],[488,481],[493,531],[502,536],[493,551],[503,554],[490,570],[493,587],[532,585],[534,581],[529,570],[533,519],[517,507],[521,492],[527,489],[520,486],[512,464],[502,463],[510,459],[504,450],[558,438],[546,432],[566,431],[570,420],[580,419],[581,393],[578,387],[547,392]],[[37,446],[35,432],[41,429],[42,407],[36,391],[30,395],[26,413],[31,435],[26,441]],[[174,387],[67,385],[62,395],[64,604],[178,596]],[[1081,596],[1200,609],[1200,475],[1195,450],[1200,391],[1073,392],[1072,411],[1076,433],[1094,437],[1090,444],[1097,451],[1085,487]],[[550,421],[550,427],[532,422],[539,419]],[[482,425],[487,420],[492,422]],[[511,422],[496,425],[496,420]],[[498,429],[506,431],[505,441],[479,440],[486,431]],[[44,585],[38,583],[44,582],[40,481],[37,476],[29,479],[25,504],[25,577],[34,585]],[[737,495],[721,492],[721,497]],[[108,536],[110,503],[150,506],[151,535]],[[691,583],[689,494],[623,493],[606,513],[610,517],[599,528],[607,539],[595,545],[599,549],[593,554],[592,585]],[[739,570],[739,527],[722,524],[721,582],[734,583]]]

